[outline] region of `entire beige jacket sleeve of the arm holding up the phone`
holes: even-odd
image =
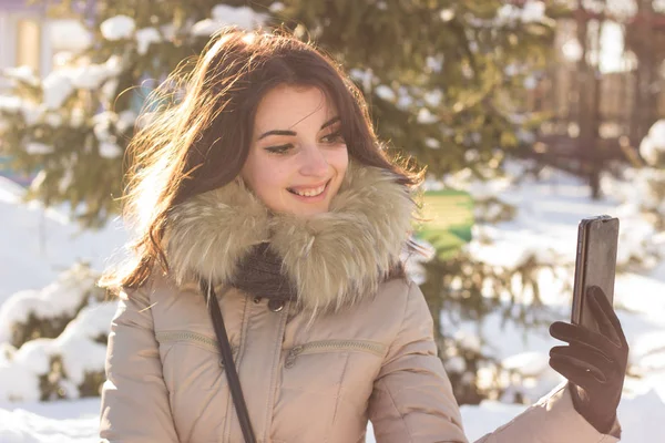
[[[375,381],[369,416],[377,443],[467,443],[450,380],[437,356],[424,297],[410,282],[400,331]],[[615,423],[612,434],[621,432]],[[565,383],[477,443],[615,443],[573,408]]]

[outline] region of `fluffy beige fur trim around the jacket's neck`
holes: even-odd
[[[337,311],[371,296],[399,260],[416,203],[395,174],[349,161],[329,212],[270,212],[242,181],[175,207],[165,251],[177,284],[224,285],[256,245],[269,241],[304,309]]]

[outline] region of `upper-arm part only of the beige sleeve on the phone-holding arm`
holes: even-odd
[[[369,419],[377,443],[467,443],[450,380],[437,356],[432,316],[412,281],[401,327],[375,380]]]

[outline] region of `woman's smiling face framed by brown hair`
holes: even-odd
[[[259,102],[241,176],[277,213],[328,210],[349,163],[339,115],[311,86],[277,86]]]

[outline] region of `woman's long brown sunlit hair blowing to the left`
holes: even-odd
[[[168,271],[162,240],[170,210],[238,176],[249,152],[257,106],[278,85],[325,91],[339,111],[342,136],[355,161],[393,172],[409,188],[422,182],[424,171],[409,171],[410,159],[389,158],[358,87],[310,42],[283,30],[228,28],[208,42],[193,70],[181,75],[184,68],[178,66],[153,92],[160,100],[176,95],[181,101],[145,112],[140,119],[147,123],[127,148],[123,216],[137,235],[130,245],[134,257],[124,269],[109,270],[100,280],[103,287],[136,288],[155,266]],[[391,274],[403,275],[401,264]]]

